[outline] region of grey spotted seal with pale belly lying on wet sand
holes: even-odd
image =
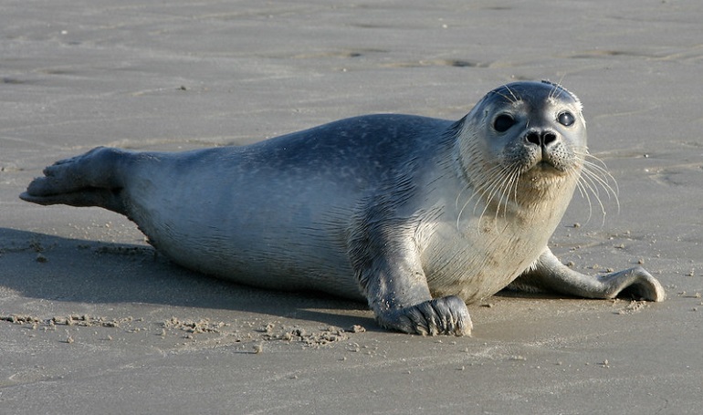
[[[366,300],[393,330],[469,335],[467,303],[509,285],[665,298],[642,267],[582,275],[547,246],[574,190],[604,182],[589,157],[580,100],[516,82],[458,121],[369,115],[243,147],[98,148],[20,197],[122,213],[207,275]]]

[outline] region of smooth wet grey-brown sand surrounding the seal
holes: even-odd
[[[694,0],[3,2],[0,412],[700,413],[701,21]],[[666,302],[499,295],[470,306],[473,337],[407,336],[363,304],[186,271],[114,213],[17,198],[98,145],[458,119],[540,78],[582,99],[619,185],[604,217],[576,195],[552,250],[593,275],[642,264]]]

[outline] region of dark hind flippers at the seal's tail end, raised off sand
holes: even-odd
[[[44,177],[29,183],[19,197],[43,205],[100,206],[124,213],[122,183],[117,171],[121,155],[121,150],[97,148],[57,161],[44,170]]]

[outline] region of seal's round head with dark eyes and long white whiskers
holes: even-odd
[[[463,120],[458,142],[467,180],[498,208],[570,200],[587,155],[581,101],[548,81],[488,92]]]

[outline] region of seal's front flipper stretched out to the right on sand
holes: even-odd
[[[648,301],[664,301],[664,287],[641,266],[596,277],[561,264],[547,248],[540,258],[509,288],[547,290],[571,296],[614,298],[629,295]]]

